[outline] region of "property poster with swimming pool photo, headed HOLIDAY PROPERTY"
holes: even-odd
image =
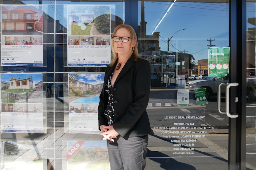
[[[69,74],[69,133],[98,134],[99,94],[104,74]]]

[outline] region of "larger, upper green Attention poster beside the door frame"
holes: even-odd
[[[210,47],[208,50],[209,77],[224,77],[229,70],[229,47]]]

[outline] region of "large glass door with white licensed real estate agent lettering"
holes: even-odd
[[[139,50],[151,64],[146,169],[242,167],[236,109],[245,93],[237,94],[231,74],[238,63],[229,17],[237,9],[230,7],[228,1],[139,1]]]

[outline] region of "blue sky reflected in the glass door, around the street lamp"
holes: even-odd
[[[151,35],[171,3],[145,1],[147,35]],[[169,51],[185,51],[195,60],[206,59],[210,38],[216,47],[229,46],[228,22],[228,4],[175,2],[155,32],[159,32],[162,51],[167,51],[167,39],[175,34],[170,40]],[[184,28],[187,29],[182,30]],[[178,30],[181,31],[176,33]]]

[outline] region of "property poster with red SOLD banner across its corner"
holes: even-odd
[[[109,170],[106,141],[68,141],[67,169]]]

